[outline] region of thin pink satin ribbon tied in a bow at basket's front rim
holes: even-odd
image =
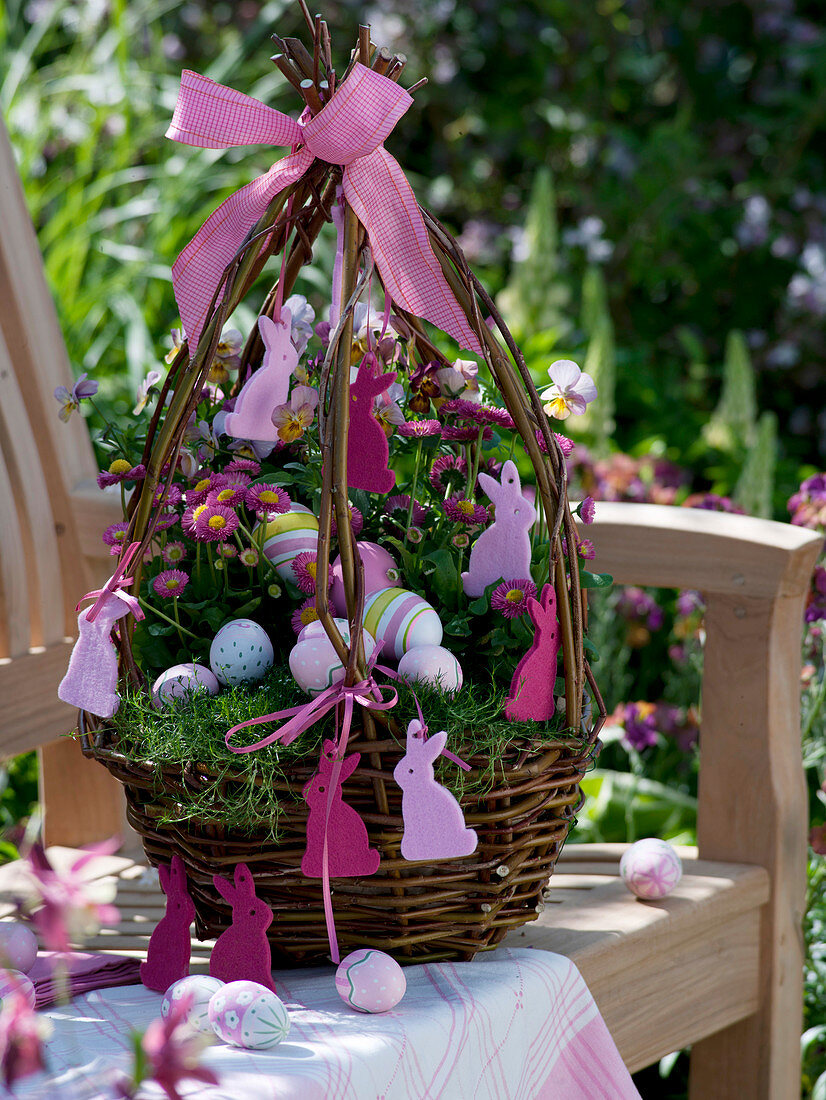
[[[361,680],[357,684],[345,684],[343,680],[339,683],[332,684],[320,695],[311,698],[309,703],[301,703],[299,706],[288,706],[283,711],[275,711],[273,714],[264,714],[257,718],[249,718],[246,722],[240,722],[232,729],[228,729],[224,736],[224,741],[227,748],[230,752],[255,752],[257,749],[265,748],[267,745],[273,745],[275,741],[279,741],[282,745],[291,745],[293,741],[299,737],[302,733],[315,725],[324,714],[331,711],[333,707],[338,707],[339,703],[344,704],[344,715],[341,724],[341,737],[335,737],[335,760],[333,762],[332,772],[330,774],[330,785],[327,793],[327,809],[324,813],[324,844],[321,851],[321,893],[324,904],[324,923],[327,925],[327,938],[330,944],[330,956],[333,963],[339,963],[339,939],[335,935],[335,921],[333,919],[332,912],[332,894],[330,890],[330,864],[329,864],[329,848],[327,840],[327,829],[330,823],[330,811],[332,809],[332,801],[334,792],[339,787],[339,777],[341,776],[341,766],[346,755],[348,739],[350,738],[350,729],[353,723],[353,708],[356,703],[361,706],[366,706],[373,711],[389,711],[398,702],[398,694],[395,688],[390,688],[393,693],[393,698],[384,698],[382,695],[381,686],[373,679],[373,669],[382,672],[384,675],[389,676],[392,680],[398,680],[397,673],[392,669],[385,668],[383,664],[376,664],[376,657],[382,648],[381,641],[376,642],[376,648],[372,657],[367,660],[367,679]],[[425,718],[421,713],[421,706],[419,705],[419,700],[414,694],[414,700],[416,702],[416,710],[419,713],[419,721],[421,722],[421,729],[419,730],[418,737],[422,740],[427,735],[427,725],[425,724]],[[376,697],[377,696],[377,697]],[[278,722],[282,718],[289,718],[283,726],[269,734],[268,737],[262,738],[254,745],[244,746],[233,746],[230,745],[230,738],[233,734],[236,734],[239,729],[244,729],[246,726],[257,726],[265,722]],[[337,712],[337,725],[338,725],[338,712]],[[447,749],[442,749],[442,756],[448,757],[454,763],[458,763],[460,768],[464,768],[465,771],[471,770],[471,766],[461,760],[458,756],[449,752]]]

